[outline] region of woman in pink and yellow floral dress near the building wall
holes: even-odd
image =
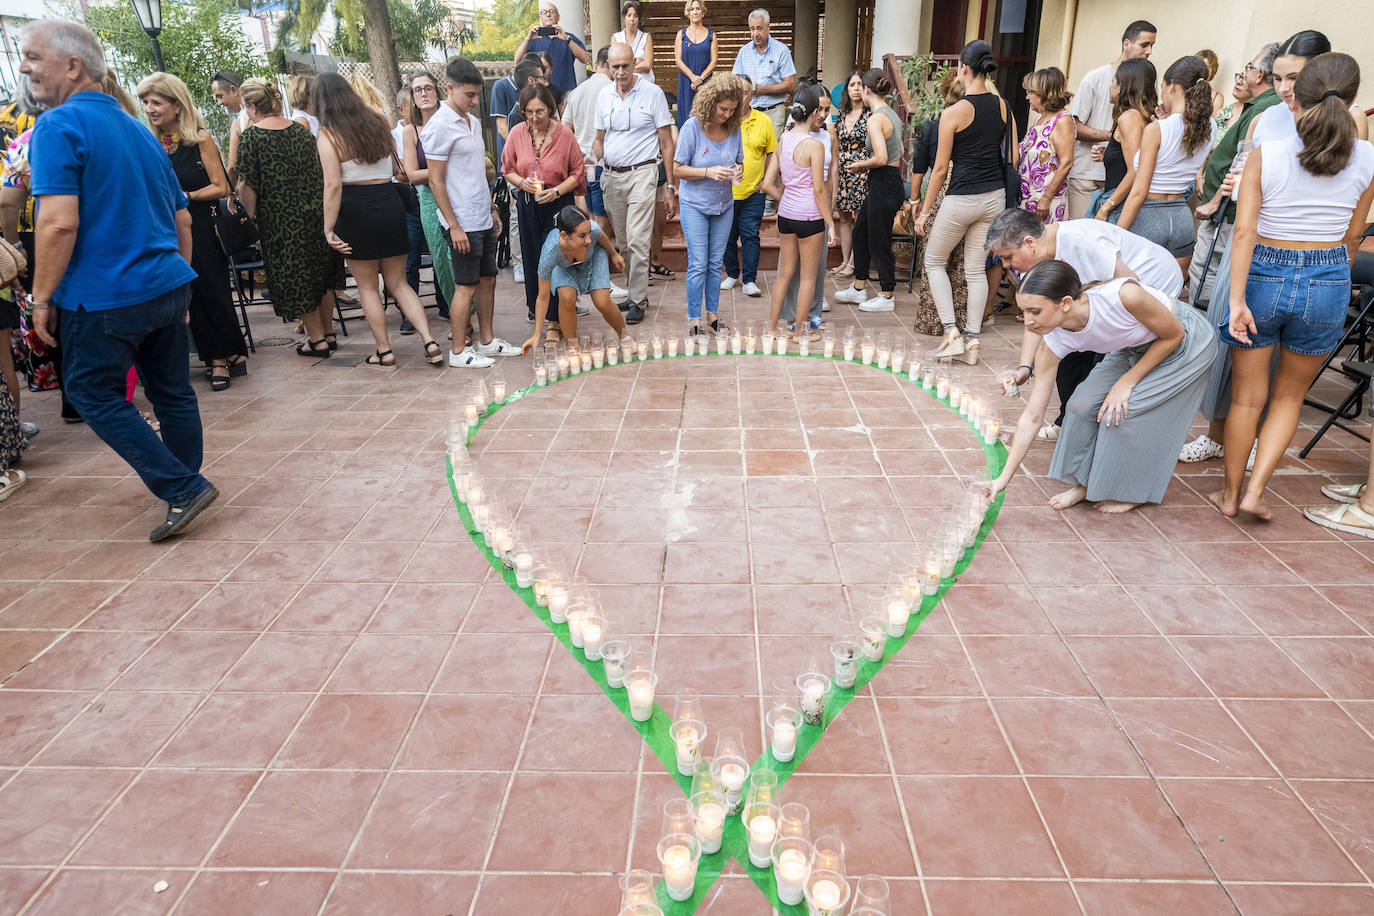
[[[1021,140],[1021,206],[1044,224],[1069,217],[1069,169],[1073,168],[1073,117],[1065,108],[1073,98],[1063,71],[1046,67],[1026,76],[1022,87],[1032,114],[1040,115]]]

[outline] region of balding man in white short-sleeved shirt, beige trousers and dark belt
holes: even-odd
[[[613,82],[596,96],[596,137],[592,159],[602,163],[602,196],[625,260],[629,299],[625,323],[639,324],[649,308],[649,246],[654,232],[658,158],[668,172],[668,218],[677,210],[673,181],[673,117],[664,91],[635,74],[629,45],[613,44],[609,54]]]

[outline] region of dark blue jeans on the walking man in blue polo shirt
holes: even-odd
[[[191,387],[191,347],[185,332],[190,284],[121,309],[62,309],[62,383],[81,419],[129,463],[143,485],[168,503],[198,494],[201,409]],[[158,437],[139,409],[124,400],[129,367],[162,424]]]

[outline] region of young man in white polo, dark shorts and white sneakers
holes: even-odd
[[[420,130],[420,146],[429,165],[429,187],[438,205],[438,221],[452,247],[453,302],[449,309],[455,353],[448,364],[485,368],[493,356],[519,356],[519,347],[492,335],[496,308],[496,244],[500,216],[492,203],[486,179],[486,146],[475,111],[482,99],[482,74],[463,58],[453,58],[445,70],[448,99]],[[478,338],[467,343],[469,313],[477,301]]]

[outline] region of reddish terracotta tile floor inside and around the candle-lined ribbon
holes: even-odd
[[[682,282],[654,297],[679,331]],[[723,297],[732,323],[765,308]],[[912,308],[830,317],[910,341]],[[500,309],[518,341],[508,275]],[[0,912],[613,912],[677,788],[458,520],[442,435],[477,375],[419,338],[394,338],[397,374],[361,368],[361,323],[311,363],[253,316],[251,375],[196,379],[224,497],[179,542],[147,542],[159,509],[52,394],[25,398],[44,431],[0,508]],[[1017,336],[989,328],[992,368]],[[1374,912],[1374,551],[1298,514],[1367,446],[1294,450],[1268,526],[1204,504],[1215,464],[1162,507],[1058,514],[1048,453],[786,798],[903,916]],[[872,607],[982,467],[908,383],[763,356],[562,382],[474,455],[657,647],[660,699],[701,689],[752,755],[772,677]],[[769,908],[735,865],[702,912]]]

